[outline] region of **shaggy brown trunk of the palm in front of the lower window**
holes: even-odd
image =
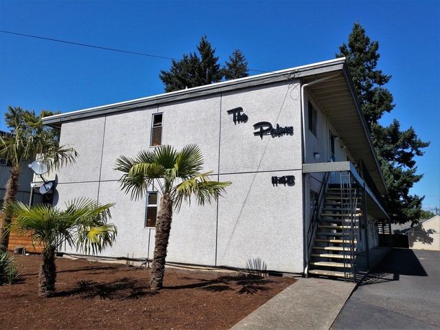
[[[162,195],[156,221],[156,238],[153,263],[151,264],[150,286],[153,290],[162,289],[165,272],[166,248],[170,238],[173,219],[173,199],[169,194]]]

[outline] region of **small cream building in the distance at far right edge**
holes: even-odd
[[[411,249],[440,251],[440,216],[421,221],[406,234]]]

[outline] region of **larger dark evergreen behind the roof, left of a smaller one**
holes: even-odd
[[[169,71],[160,72],[159,78],[167,93],[217,83],[223,78],[219,58],[214,56],[215,49],[212,49],[206,36],[201,37],[197,50],[199,56],[195,53],[184,54],[180,61],[173,60]]]

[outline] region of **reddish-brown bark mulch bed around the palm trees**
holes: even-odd
[[[148,270],[57,258],[56,296],[39,298],[41,256],[16,256],[21,276],[0,287],[0,329],[229,329],[294,283],[269,276],[166,269],[164,289]]]

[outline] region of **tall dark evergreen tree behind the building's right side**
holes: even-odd
[[[391,76],[376,69],[380,58],[379,43],[371,42],[359,23],[353,25],[348,44],[342,44],[339,50],[336,57],[347,58],[347,65],[382,166],[388,188],[388,214],[393,222],[417,222],[424,197],[410,195],[409,190],[423,176],[416,174],[414,157],[423,155],[422,149],[429,142],[419,139],[412,127],[401,131],[398,120],[388,126],[379,123],[382,115],[395,106],[393,95],[383,87]]]

